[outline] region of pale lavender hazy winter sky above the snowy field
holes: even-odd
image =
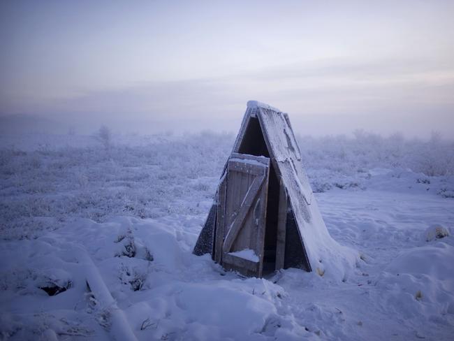
[[[0,115],[454,136],[454,1],[1,1]],[[82,129],[82,128],[81,128]]]

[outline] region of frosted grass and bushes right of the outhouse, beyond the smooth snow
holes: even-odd
[[[428,183],[427,177],[438,177],[443,182],[454,175],[454,142],[442,140],[437,133],[430,140],[406,140],[399,133],[383,138],[356,131],[353,138],[299,136],[298,143],[316,192],[333,187],[364,189],[374,168],[394,170],[396,176],[409,170],[418,174],[420,182]],[[439,187],[437,193],[454,197],[449,186]]]

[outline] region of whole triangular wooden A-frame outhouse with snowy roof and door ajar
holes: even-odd
[[[261,277],[312,271],[327,238],[288,115],[249,101],[193,253]]]

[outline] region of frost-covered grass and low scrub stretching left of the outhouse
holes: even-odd
[[[77,147],[54,138],[54,147],[0,150],[0,238],[34,238],[74,217],[104,222],[205,212],[198,203],[214,196],[234,136],[135,138],[116,143],[108,157],[93,139]]]

